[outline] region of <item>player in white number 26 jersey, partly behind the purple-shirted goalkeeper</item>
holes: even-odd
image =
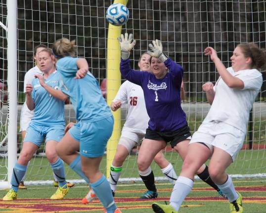
[[[138,61],[140,71],[150,71],[150,55],[144,52]],[[184,99],[185,93],[182,87],[181,95]],[[117,145],[115,157],[113,159],[109,182],[113,195],[117,187],[117,182],[122,173],[122,165],[129,155],[131,149],[137,145],[145,136],[148,127],[149,116],[147,114],[143,90],[139,85],[130,81],[125,81],[119,88],[117,95],[111,103],[111,109],[116,111],[120,107],[127,107],[127,120],[122,129],[121,137]],[[177,174],[173,165],[164,157],[162,151],[154,157],[154,161],[159,165],[163,174],[174,185]],[[83,199],[83,203],[87,204],[94,200],[95,194],[92,190]],[[149,199],[149,194],[144,193],[141,198]]]

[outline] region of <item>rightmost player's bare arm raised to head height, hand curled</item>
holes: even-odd
[[[217,71],[219,72],[222,80],[226,83],[226,85],[230,88],[244,88],[244,82],[237,77],[231,75],[230,72],[226,70],[222,61],[218,58],[216,51],[212,47],[207,47],[204,50],[205,55],[209,55],[211,60],[214,62]]]

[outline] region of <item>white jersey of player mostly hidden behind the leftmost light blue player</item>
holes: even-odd
[[[30,69],[29,71],[26,72],[25,77],[24,77],[24,93],[26,92],[26,84],[31,84],[32,80],[34,79],[34,75],[35,74],[43,74],[42,71],[40,71],[40,69],[35,66],[32,69]],[[23,104],[22,108],[21,108],[21,114],[20,114],[20,131],[25,131],[33,117],[34,114],[34,110],[30,110],[25,103]]]

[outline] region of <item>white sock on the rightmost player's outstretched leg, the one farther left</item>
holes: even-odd
[[[177,178],[176,184],[173,188],[171,197],[170,197],[170,205],[174,207],[175,210],[178,211],[183,200],[189,194],[192,189],[194,181],[190,178],[179,176]]]

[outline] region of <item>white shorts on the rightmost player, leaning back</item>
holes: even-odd
[[[202,123],[197,132],[192,136],[190,143],[202,142],[211,151],[218,147],[231,155],[234,161],[237,153],[243,146],[246,133],[227,123],[220,121],[210,121]]]

